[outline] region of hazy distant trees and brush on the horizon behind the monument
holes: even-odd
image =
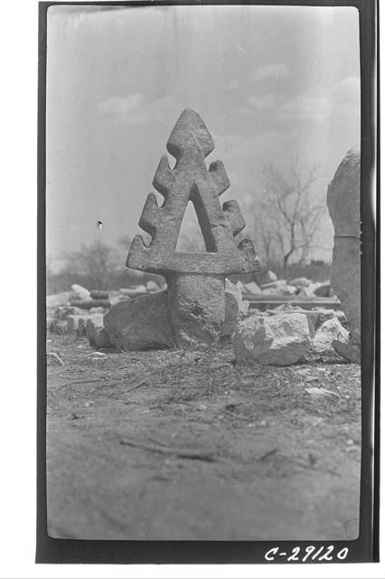
[[[287,170],[274,164],[264,166],[262,197],[258,195],[247,207],[248,227],[245,236],[254,243],[261,261],[258,274],[230,276],[232,280],[260,282],[268,270],[275,271],[287,280],[305,276],[324,280],[329,276],[329,265],[324,261],[309,261],[316,248],[320,222],[325,204],[315,199],[313,185],[316,167],[304,169],[296,160]],[[243,233],[239,234],[239,238]],[[146,242],[150,242],[145,234]],[[163,278],[154,274],[130,270],[125,266],[131,239],[124,237],[117,247],[99,240],[84,245],[80,251],[61,257],[61,268],[52,271],[47,267],[47,293],[70,289],[79,283],[87,289],[119,289]],[[178,243],[182,252],[202,252],[202,235],[198,232],[181,233]]]

